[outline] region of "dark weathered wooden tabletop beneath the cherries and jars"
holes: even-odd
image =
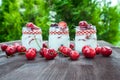
[[[81,55],[77,61],[62,56],[48,61],[37,55],[28,61],[18,54],[6,58],[0,51],[0,80],[120,80],[120,49],[104,41],[98,44],[112,47],[113,54],[94,59]]]

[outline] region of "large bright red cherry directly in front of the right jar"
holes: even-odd
[[[96,55],[95,49],[91,47],[85,47],[82,49],[82,53],[86,58],[94,58]]]

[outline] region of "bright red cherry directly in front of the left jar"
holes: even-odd
[[[28,60],[33,60],[36,57],[36,51],[30,48],[26,51],[25,56]]]

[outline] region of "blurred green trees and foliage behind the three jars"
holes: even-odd
[[[27,22],[47,40],[50,24],[59,21],[67,22],[74,40],[82,20],[96,26],[98,40],[120,46],[120,0],[0,0],[0,42],[20,40]]]

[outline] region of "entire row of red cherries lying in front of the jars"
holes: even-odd
[[[5,51],[7,56],[12,56],[15,53],[24,53],[28,60],[35,59],[37,54],[36,49],[29,48],[26,50],[26,48],[19,43],[14,43],[13,45],[2,44],[1,50]],[[58,51],[47,48],[47,44],[43,43],[43,47],[38,53],[47,60],[54,59],[58,53],[65,57],[70,57],[71,60],[77,60],[80,57],[80,54],[74,50],[73,43],[70,44],[70,47],[60,46]],[[112,49],[108,46],[98,46],[95,49],[90,46],[84,46],[82,48],[82,54],[85,58],[94,58],[96,54],[108,57],[112,54]]]

